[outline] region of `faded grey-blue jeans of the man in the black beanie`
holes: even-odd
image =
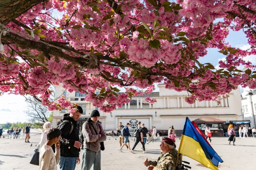
[[[94,152],[89,149],[84,149],[82,159],[82,170],[90,170],[93,165],[93,170],[100,170],[101,151]]]

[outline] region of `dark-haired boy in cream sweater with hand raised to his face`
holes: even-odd
[[[39,170],[57,170],[57,164],[60,160],[60,135],[61,130],[52,128],[47,133],[48,141],[42,146],[39,154]],[[55,144],[55,155],[52,145]]]

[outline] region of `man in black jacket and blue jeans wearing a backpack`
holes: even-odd
[[[75,113],[64,114],[61,119],[63,122],[59,129],[60,137],[60,169],[75,170],[76,164],[80,163],[79,152],[81,143],[79,142],[79,127],[77,120],[83,113],[81,106],[74,106]],[[72,130],[72,131],[71,131]]]

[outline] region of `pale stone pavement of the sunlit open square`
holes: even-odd
[[[104,142],[105,151],[101,151],[101,170],[146,170],[143,161],[148,158],[155,160],[160,155],[160,141],[146,144],[148,153],[142,153],[141,145],[135,148],[135,153],[128,152],[123,148],[123,153],[118,151],[118,137],[108,137],[110,140]],[[38,166],[29,164],[33,149],[40,142],[40,135],[31,135],[31,143],[25,143],[24,136],[19,139],[0,138],[0,170],[36,170]],[[30,147],[30,145],[33,145]],[[134,141],[131,141],[131,147]],[[176,145],[179,147],[180,141],[177,140]],[[212,137],[212,147],[223,159],[223,163],[219,164],[220,170],[241,170],[256,169],[256,138],[236,138],[236,146],[228,145],[227,137]],[[82,161],[82,153],[80,159]],[[190,162],[192,170],[207,169],[193,159],[183,156],[183,160]],[[58,167],[59,169],[59,167]],[[76,170],[81,169],[81,163],[76,166]]]

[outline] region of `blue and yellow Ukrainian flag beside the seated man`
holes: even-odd
[[[187,117],[178,153],[186,155],[210,169],[218,170],[219,162],[223,162],[223,160],[199,131],[195,123],[193,125]]]

